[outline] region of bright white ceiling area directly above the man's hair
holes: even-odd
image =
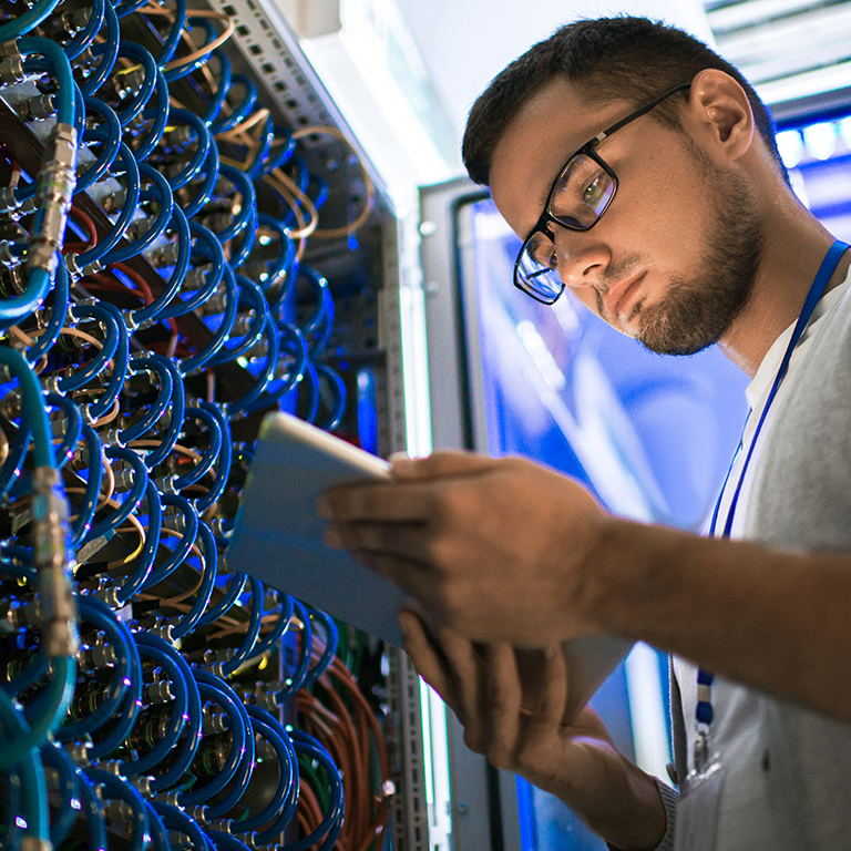
[[[488,83],[563,23],[627,12],[667,21],[711,42],[699,0],[396,0],[458,137]]]

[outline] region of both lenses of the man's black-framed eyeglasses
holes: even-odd
[[[615,194],[615,178],[592,156],[574,156],[553,186],[546,212],[572,230],[587,230],[603,215]],[[517,260],[517,283],[544,301],[558,298],[558,277],[552,233],[536,230]]]

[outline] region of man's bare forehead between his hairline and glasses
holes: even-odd
[[[496,145],[490,174],[493,201],[515,233],[534,227],[567,157],[628,111],[626,101],[601,104],[567,78],[523,104]]]

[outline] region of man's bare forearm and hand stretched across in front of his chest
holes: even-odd
[[[476,640],[608,633],[851,720],[851,554],[711,541],[613,517],[531,462],[435,453],[341,489],[329,540]]]

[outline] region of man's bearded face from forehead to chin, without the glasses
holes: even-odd
[[[491,168],[494,202],[521,238],[566,158],[633,109],[594,105],[564,79],[523,106]],[[721,339],[759,262],[761,225],[746,181],[648,115],[597,151],[619,188],[591,230],[552,226],[565,285],[653,351],[688,355]]]

